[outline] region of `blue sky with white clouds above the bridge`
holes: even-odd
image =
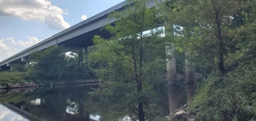
[[[0,61],[125,0],[0,0]]]

